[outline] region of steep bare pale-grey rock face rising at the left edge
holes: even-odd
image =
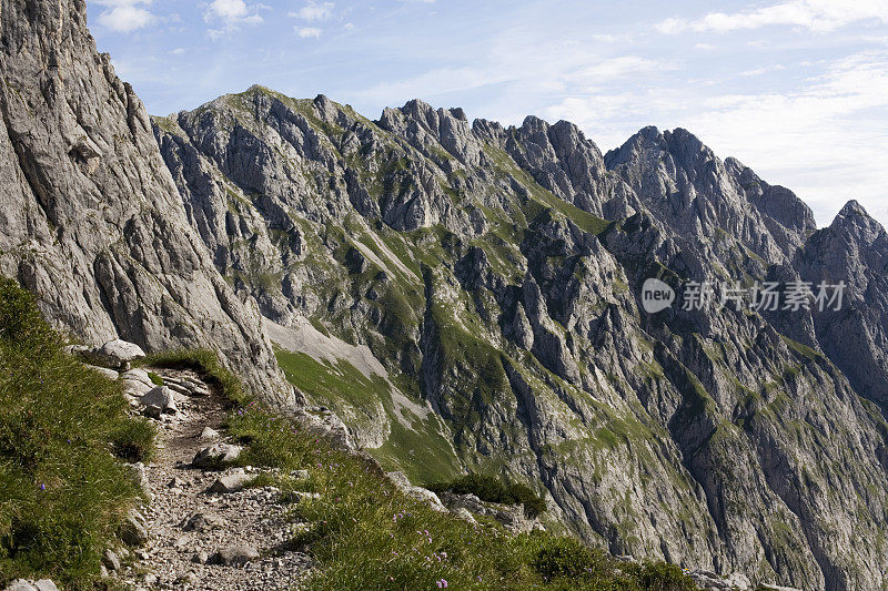
[[[95,51],[83,0],[0,3],[0,272],[88,344],[213,347],[270,397],[252,302],[191,230],[132,88]]]

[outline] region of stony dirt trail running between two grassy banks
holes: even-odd
[[[139,378],[135,371],[133,380]],[[215,470],[192,465],[206,448],[236,454],[236,446],[225,440],[221,428],[224,410],[219,393],[193,371],[150,371],[172,390],[174,412],[163,408],[155,415],[160,449],[144,468],[143,485],[152,497],[141,511],[148,543],[113,575],[137,589],[297,587],[312,559],[286,548],[299,526],[287,521],[286,506],[279,502],[280,491],[273,487],[242,488],[261,473],[250,467]],[[144,377],[144,373],[141,375]],[[152,396],[142,390],[145,398],[133,396],[133,406]],[[154,395],[162,398],[157,388]],[[113,557],[107,557],[105,564],[113,568]]]

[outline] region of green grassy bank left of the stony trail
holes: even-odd
[[[153,448],[121,385],[63,345],[33,296],[0,279],[0,587],[49,577],[92,588],[100,552],[140,496],[121,458]]]

